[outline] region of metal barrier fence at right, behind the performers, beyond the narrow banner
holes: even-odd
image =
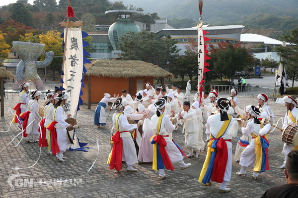
[[[246,85],[246,86],[231,86],[231,85],[212,85],[212,89],[216,89],[219,91],[219,94],[229,95],[231,89],[237,89],[238,95],[248,95],[252,97],[258,96],[260,93],[266,94],[268,97],[273,94],[274,88],[266,87],[266,86],[258,86],[258,85]],[[241,92],[241,90],[244,90]]]

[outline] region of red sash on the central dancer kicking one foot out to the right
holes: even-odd
[[[167,136],[156,135],[156,136],[154,136],[153,141],[158,144],[158,150],[161,155],[164,167],[167,170],[169,170],[169,169],[174,170],[174,166],[172,165],[169,155],[165,149],[166,141],[163,137],[169,137],[169,136],[168,135]]]

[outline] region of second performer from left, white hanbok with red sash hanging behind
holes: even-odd
[[[28,110],[20,115],[22,119],[24,119],[23,122],[23,136],[25,137],[26,142],[38,142],[39,141],[39,132],[38,132],[38,120],[42,117],[38,114],[39,110],[39,104],[38,100],[41,96],[41,91],[33,91],[31,93],[31,100],[28,103]],[[30,141],[29,137],[30,135],[33,137],[33,140]]]

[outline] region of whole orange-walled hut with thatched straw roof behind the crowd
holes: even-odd
[[[160,78],[163,84],[164,78],[174,77],[161,67],[141,60],[94,60],[85,67],[86,87],[81,98],[88,104],[100,101],[104,93],[121,95],[123,89],[133,96],[145,89],[144,83],[153,85],[154,78]]]

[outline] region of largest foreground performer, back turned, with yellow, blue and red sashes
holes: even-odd
[[[220,114],[211,115],[206,123],[211,140],[208,143],[207,156],[199,177],[199,182],[211,186],[211,181],[221,183],[219,193],[230,192],[226,188],[232,171],[232,137],[236,137],[238,124],[229,116],[233,108],[228,99],[218,99]]]

